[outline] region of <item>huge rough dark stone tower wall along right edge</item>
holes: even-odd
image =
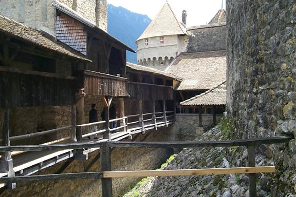
[[[226,13],[227,111],[234,134],[295,135],[295,1],[227,1]],[[261,176],[266,195],[296,193],[295,147],[292,140],[256,149],[256,163],[276,167],[276,174]]]

